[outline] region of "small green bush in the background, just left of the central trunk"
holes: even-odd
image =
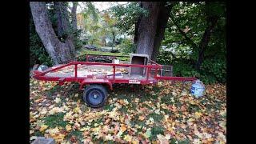
[[[116,46],[118,50],[122,50],[124,54],[135,53],[136,46],[130,39],[123,39],[122,43]]]

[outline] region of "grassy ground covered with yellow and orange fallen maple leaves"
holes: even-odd
[[[226,86],[189,94],[191,83],[116,85],[108,102],[91,109],[77,83],[30,79],[30,140],[58,143],[226,143]]]

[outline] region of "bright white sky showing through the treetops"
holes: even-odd
[[[106,10],[108,8],[110,8],[110,6],[116,6],[118,4],[126,4],[127,2],[93,2],[95,8],[97,8],[99,11],[102,11],[102,10]],[[78,9],[77,9],[77,13],[80,13],[82,11],[82,8],[83,8],[83,3],[82,2],[79,2],[79,5],[78,6]]]

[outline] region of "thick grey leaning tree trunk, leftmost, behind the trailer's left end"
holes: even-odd
[[[74,58],[70,53],[70,43],[58,40],[47,14],[46,3],[30,2],[30,9],[36,31],[54,64],[70,62]]]

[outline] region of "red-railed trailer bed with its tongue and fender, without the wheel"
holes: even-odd
[[[150,60],[151,61],[151,60]],[[132,67],[141,68],[143,74],[131,74]],[[110,86],[114,83],[154,84],[160,80],[193,81],[197,78],[165,77],[158,74],[162,65],[151,61],[147,65],[117,64],[104,62],[70,62],[64,65],[52,66],[47,70],[34,70],[32,78],[46,81],[78,82],[80,89],[90,83],[105,83]],[[161,72],[162,74],[162,72]]]

